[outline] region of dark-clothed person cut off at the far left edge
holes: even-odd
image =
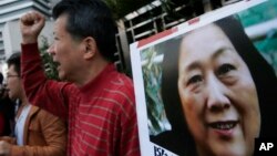
[[[14,126],[14,102],[9,98],[8,90],[0,73],[0,136],[11,136]]]

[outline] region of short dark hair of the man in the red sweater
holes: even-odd
[[[62,0],[53,8],[53,18],[68,14],[66,31],[73,39],[92,37],[103,58],[114,61],[116,24],[102,0]]]

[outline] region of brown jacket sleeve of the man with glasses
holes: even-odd
[[[35,138],[30,138],[31,145],[11,146],[12,156],[65,156],[66,154],[66,126],[59,117],[47,113],[40,112],[39,122],[41,133],[43,134],[45,144],[44,146],[33,145]],[[30,135],[30,134],[29,134]]]

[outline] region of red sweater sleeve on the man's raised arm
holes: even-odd
[[[66,119],[66,90],[71,84],[47,79],[38,43],[21,44],[21,77],[28,100],[31,104]]]

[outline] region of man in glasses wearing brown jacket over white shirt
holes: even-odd
[[[8,60],[7,79],[10,98],[19,98],[21,105],[16,115],[16,137],[0,137],[0,155],[65,156],[65,123],[28,102],[20,76],[20,53]]]

